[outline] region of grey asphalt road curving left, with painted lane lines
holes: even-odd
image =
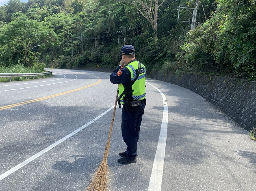
[[[0,191],[83,191],[102,161],[117,85],[110,73],[57,70],[0,83]],[[108,166],[112,191],[255,191],[256,142],[182,87],[147,79],[137,163],[117,108]]]

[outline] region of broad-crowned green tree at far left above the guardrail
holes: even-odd
[[[54,47],[59,45],[59,40],[52,29],[22,15],[0,29],[0,45],[5,47],[1,59],[13,59],[12,56],[16,55],[13,61],[31,67],[37,58],[37,54],[31,52],[33,46],[41,45],[42,49]]]

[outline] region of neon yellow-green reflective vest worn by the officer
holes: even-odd
[[[126,66],[126,68],[128,68],[128,70],[131,73],[131,81],[133,81],[137,74],[136,74],[136,70],[139,68],[138,65],[138,61],[134,61],[131,62],[130,64],[128,64],[128,66]],[[139,77],[137,78],[137,80],[135,81],[135,83],[132,85],[132,99],[133,100],[143,100],[146,97],[146,93],[145,93],[145,81],[146,81],[146,68],[143,64],[141,64],[141,72],[139,74]],[[124,91],[124,85],[123,84],[119,84],[119,96],[121,95],[121,93],[123,93]],[[124,104],[123,98],[124,98],[124,94],[120,99],[121,104]]]

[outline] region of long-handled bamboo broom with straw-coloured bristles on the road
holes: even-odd
[[[117,88],[117,96],[115,98],[115,107],[114,107],[113,117],[112,117],[110,130],[108,134],[108,140],[106,142],[104,156],[100,163],[100,166],[98,167],[98,170],[93,174],[91,180],[89,181],[89,186],[85,189],[85,191],[107,191],[108,187],[110,187],[109,174],[111,173],[111,170],[108,167],[107,159],[108,159],[108,152],[111,144],[110,138],[111,138],[111,132],[112,132],[112,127],[113,127],[114,118],[115,118],[115,109],[117,107],[117,97],[118,97],[118,88]]]

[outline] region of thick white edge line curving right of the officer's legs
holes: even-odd
[[[147,83],[149,84],[149,83]],[[149,84],[151,85],[151,84]],[[153,85],[151,85],[154,87]],[[156,148],[156,155],[153,163],[153,168],[150,176],[150,183],[148,186],[148,191],[161,191],[162,178],[163,178],[163,166],[165,161],[165,146],[167,137],[167,125],[168,125],[168,105],[165,95],[158,88],[154,87],[159,91],[163,98],[163,119],[160,130],[160,135],[158,139],[158,144]]]

